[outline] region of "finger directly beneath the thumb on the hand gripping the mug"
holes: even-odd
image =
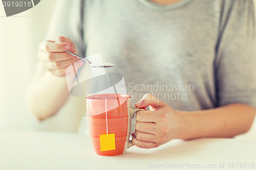
[[[138,111],[136,120],[139,122],[157,122],[157,111]]]

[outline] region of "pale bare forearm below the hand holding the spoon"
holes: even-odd
[[[49,117],[61,108],[69,95],[66,78],[46,71],[33,78],[27,90],[27,103],[38,119]]]

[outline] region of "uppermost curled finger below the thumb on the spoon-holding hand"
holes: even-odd
[[[40,50],[44,52],[66,52],[70,50],[70,45],[68,43],[54,43],[50,40],[42,41],[39,45]]]

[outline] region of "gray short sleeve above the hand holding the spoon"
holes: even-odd
[[[84,55],[83,43],[83,0],[58,0],[51,18],[46,39],[55,40],[58,36],[69,37]]]

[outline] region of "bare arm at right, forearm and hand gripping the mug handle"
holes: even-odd
[[[145,94],[135,106],[150,106],[151,110],[136,113],[133,143],[139,148],[156,148],[172,139],[233,137],[250,129],[256,113],[245,104],[183,112],[151,94]]]

